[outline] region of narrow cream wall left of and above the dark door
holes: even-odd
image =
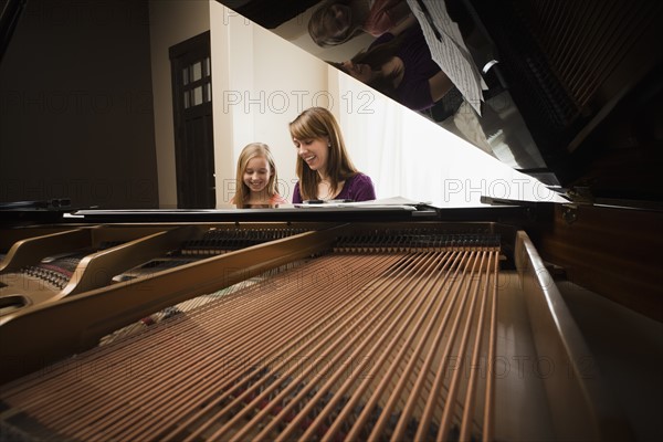
[[[177,207],[172,85],[168,49],[210,29],[210,0],[150,0],[150,49],[159,207]],[[214,0],[212,0],[215,3]],[[212,57],[213,60],[213,57]]]

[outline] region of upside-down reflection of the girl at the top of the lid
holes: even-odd
[[[361,32],[381,35],[410,15],[406,0],[328,1],[311,17],[308,33],[317,45],[333,46]]]

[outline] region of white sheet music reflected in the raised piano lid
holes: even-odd
[[[408,4],[421,25],[432,59],[461,91],[465,101],[481,115],[482,90],[488,87],[472,60],[457,24],[449,17],[443,1],[420,1],[425,6],[430,21],[417,0],[408,0]]]

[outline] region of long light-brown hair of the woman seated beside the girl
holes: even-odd
[[[324,107],[311,107],[305,109],[290,124],[290,133],[293,139],[328,139],[329,156],[327,157],[327,170],[332,192],[337,193],[339,183],[358,173],[355,165],[347,154],[340,127],[334,115]],[[299,192],[303,199],[317,199],[317,187],[320,176],[312,170],[302,157],[297,156],[296,168],[299,178]]]

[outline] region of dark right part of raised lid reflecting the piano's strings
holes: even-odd
[[[663,56],[653,42],[663,3],[470,2],[548,169],[570,197],[660,202]]]

